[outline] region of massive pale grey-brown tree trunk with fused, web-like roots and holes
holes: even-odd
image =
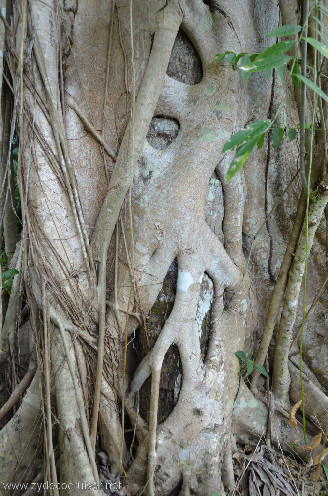
[[[13,2],[5,67],[18,123],[22,235],[0,360],[17,386],[25,308],[38,372],[1,430],[5,482],[14,477],[22,416],[22,451],[28,460],[42,423],[47,463],[42,472],[38,451],[24,472],[23,457],[19,476],[58,481],[60,495],[76,494],[69,483],[84,480],[102,494],[100,451],[112,473],[124,474],[127,494],[144,486],[148,496],[232,491],[235,423],[243,440],[268,422],[267,408],[244,383],[239,389],[234,352],[257,351],[301,187],[296,180],[283,193],[297,170],[296,140],[284,141],[284,155],[269,133],[228,182],[233,153],[221,150],[237,130],[272,118],[281,99],[276,124],[294,127],[299,95],[274,70],[243,84],[217,54],[268,48],[279,12],[276,3],[241,0]],[[324,270],[320,218],[311,295]],[[9,254],[16,239],[6,226]],[[300,430],[276,429],[276,439],[298,442]]]

